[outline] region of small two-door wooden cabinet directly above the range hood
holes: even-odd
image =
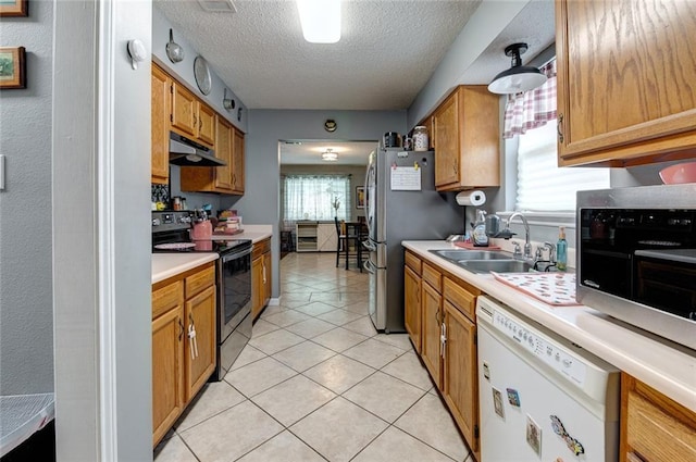
[[[215,142],[215,111],[172,79],[172,129],[212,147]]]

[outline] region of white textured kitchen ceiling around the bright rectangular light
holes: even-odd
[[[236,13],[156,0],[249,109],[407,109],[480,0],[344,0],[338,43],[306,42],[290,0]]]

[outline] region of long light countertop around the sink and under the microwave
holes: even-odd
[[[696,352],[641,330],[589,307],[554,307],[474,274],[428,250],[451,249],[442,240],[408,240],[403,247],[465,280],[513,310],[573,341],[616,367],[696,412]]]

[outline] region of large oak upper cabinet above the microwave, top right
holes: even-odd
[[[559,164],[696,155],[696,2],[556,1]]]

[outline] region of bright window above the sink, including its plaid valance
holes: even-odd
[[[557,151],[556,59],[542,71],[544,85],[508,97],[504,138],[518,136],[514,210],[574,212],[579,190],[609,187],[609,168],[559,167]]]

